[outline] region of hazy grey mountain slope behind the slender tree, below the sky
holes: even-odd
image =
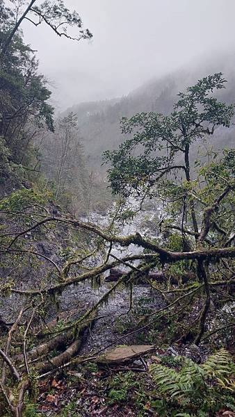
[[[168,114],[177,101],[177,94],[197,79],[214,72],[223,72],[228,80],[226,89],[218,92],[218,97],[227,103],[235,102],[234,56],[224,56],[213,63],[198,67],[188,67],[181,71],[151,80],[140,88],[121,98],[81,103],[68,108],[78,116],[79,129],[88,158],[88,164],[95,171],[104,171],[101,167],[102,153],[106,149],[115,149],[125,139],[120,132],[120,119],[141,112],[159,112]],[[235,129],[217,129],[209,143],[215,147],[234,146]]]

